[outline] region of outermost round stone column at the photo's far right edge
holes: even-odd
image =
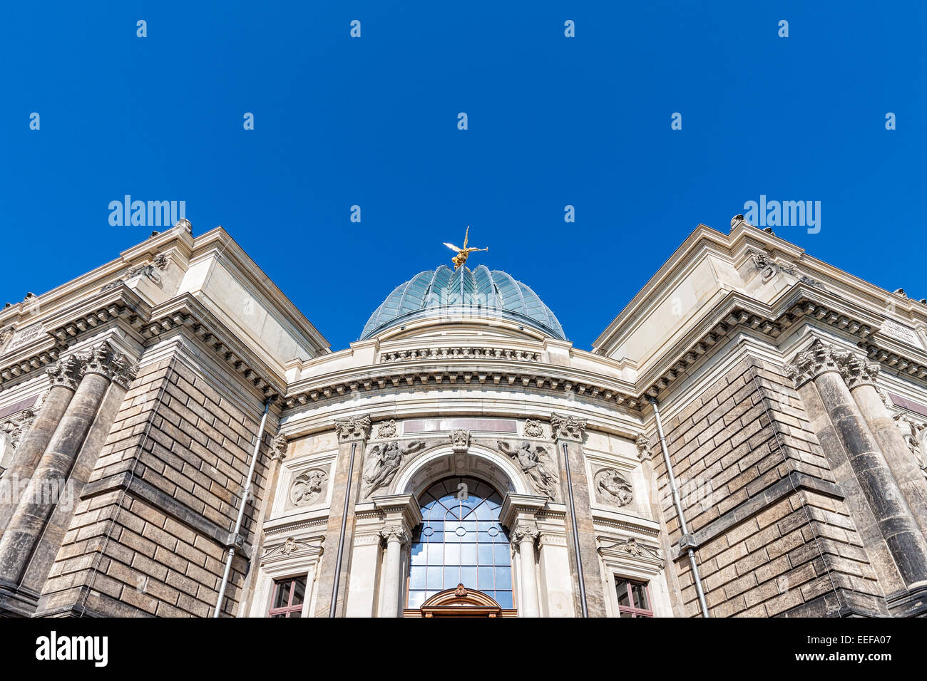
[[[885,461],[921,528],[921,534],[927,536],[927,480],[876,390],[875,379],[879,374],[879,366],[849,354],[849,357],[844,358],[841,370],[850,394],[882,449]]]

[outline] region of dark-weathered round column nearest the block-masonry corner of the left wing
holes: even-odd
[[[19,584],[19,578],[42,536],[44,524],[64,491],[78,449],[94,422],[96,410],[114,375],[134,376],[137,367],[106,342],[78,356],[83,378],[71,398],[32,475],[32,480],[0,540],[0,583]],[[131,380],[131,378],[128,378]]]

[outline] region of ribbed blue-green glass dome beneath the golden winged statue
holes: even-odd
[[[501,270],[485,265],[475,270],[435,271],[416,274],[397,286],[367,320],[361,340],[419,319],[453,314],[487,315],[530,326],[542,334],[566,340],[563,327],[538,294]]]

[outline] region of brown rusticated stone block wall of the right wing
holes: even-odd
[[[666,430],[712,616],[887,614],[844,494],[781,368],[742,359]],[[676,550],[662,460],[654,471]],[[684,612],[696,616],[689,561],[682,552],[673,559]]]

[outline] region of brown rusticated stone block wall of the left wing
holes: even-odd
[[[210,615],[260,422],[257,397],[223,395],[216,385],[180,355],[142,365],[83,489],[37,615]],[[243,524],[246,556],[256,542],[266,434],[273,432],[265,430]],[[236,558],[224,614],[237,612],[247,571],[246,558]]]

